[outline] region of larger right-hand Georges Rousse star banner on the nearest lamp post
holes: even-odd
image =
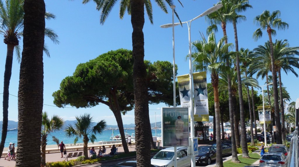
[[[193,73],[194,121],[209,121],[207,72]]]

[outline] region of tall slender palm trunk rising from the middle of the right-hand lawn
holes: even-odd
[[[239,46],[238,46],[238,36],[237,36],[237,25],[236,21],[233,20],[234,34],[235,34],[235,46],[236,46],[236,67],[238,75],[238,90],[239,90],[239,103],[240,103],[240,120],[241,120],[241,143],[242,143],[242,157],[249,158],[248,148],[247,148],[247,138],[246,138],[246,127],[245,127],[245,114],[244,114],[244,104],[243,104],[243,94],[242,94],[242,82],[241,82],[241,72],[240,72],[240,59],[239,59]]]

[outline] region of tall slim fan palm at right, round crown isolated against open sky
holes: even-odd
[[[253,37],[255,40],[259,39],[263,36],[262,30],[267,30],[270,42],[270,56],[271,56],[271,71],[273,75],[273,88],[274,88],[274,110],[275,110],[275,124],[276,124],[276,138],[277,144],[282,144],[281,139],[281,129],[280,129],[280,118],[279,118],[279,106],[278,106],[278,89],[277,89],[277,78],[276,78],[276,71],[274,67],[274,49],[273,49],[273,42],[272,42],[272,35],[276,35],[276,31],[273,28],[277,29],[286,29],[289,28],[289,24],[286,22],[281,21],[280,11],[276,10],[270,14],[269,10],[265,10],[261,15],[257,15],[254,18],[256,21],[257,26],[260,26],[254,33]]]

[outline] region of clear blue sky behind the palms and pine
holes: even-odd
[[[188,21],[195,18],[208,8],[216,4],[217,0],[196,0],[196,1],[182,1],[184,7],[174,0],[176,10],[179,13],[181,21]],[[288,0],[264,0],[264,1],[249,1],[253,6],[242,14],[246,16],[247,21],[237,24],[239,48],[254,49],[258,45],[264,45],[268,40],[266,31],[263,31],[263,37],[258,41],[252,38],[253,32],[259,28],[253,23],[255,16],[260,15],[264,10],[280,10],[281,19],[289,23],[289,29],[277,30],[277,35],[272,37],[275,39],[289,41],[290,46],[298,46],[298,7],[299,1]],[[57,91],[60,82],[66,76],[72,75],[77,65],[88,62],[96,58],[102,53],[119,48],[132,50],[132,25],[131,16],[125,15],[121,20],[118,15],[119,2],[111,11],[109,17],[106,19],[104,25],[100,24],[100,12],[96,10],[95,4],[91,1],[89,4],[83,5],[81,0],[67,1],[67,0],[45,0],[46,11],[52,12],[56,15],[56,20],[46,21],[46,26],[54,29],[59,35],[60,44],[55,45],[49,39],[45,39],[45,43],[50,50],[51,58],[44,55],[44,107],[43,111],[47,111],[49,115],[58,114],[65,120],[74,120],[75,116],[84,113],[90,113],[95,121],[105,119],[108,125],[116,125],[115,118],[112,111],[104,105],[98,105],[93,108],[57,108],[54,107],[52,93]],[[145,59],[155,62],[157,60],[170,61],[173,59],[172,50],[172,28],[163,29],[160,25],[172,23],[171,9],[168,7],[169,14],[162,12],[154,1],[153,18],[154,24],[151,25],[147,16],[145,15],[144,24],[144,49]],[[178,19],[175,18],[175,22]],[[200,40],[200,32],[205,33],[208,23],[205,18],[199,18],[192,22],[191,25],[191,41]],[[227,24],[228,42],[234,44],[234,32],[232,24]],[[219,32],[216,33],[216,38],[219,40],[222,37],[222,31],[219,27]],[[1,36],[1,40],[3,40]],[[22,46],[22,39],[20,40]],[[183,27],[175,27],[175,55],[176,64],[178,65],[178,75],[188,74],[189,63],[184,60],[187,55],[188,47],[188,31],[187,25]],[[3,92],[3,75],[6,58],[6,45],[0,42],[0,88]],[[13,57],[13,69],[10,80],[10,94],[18,95],[19,86],[19,68],[20,65]],[[299,70],[296,69],[299,73]],[[208,76],[208,80],[210,77]],[[282,73],[283,86],[287,87],[290,93],[291,101],[295,101],[298,95],[297,82],[298,78],[294,74],[286,75]],[[265,81],[259,78],[260,85]],[[9,115],[8,119],[18,120],[18,103],[17,97],[10,95],[9,99]],[[0,101],[3,101],[2,94]],[[53,106],[51,106],[53,105]],[[67,106],[71,107],[71,106]],[[155,122],[155,112],[157,122],[161,121],[161,107],[166,107],[165,104],[149,105],[150,121]],[[2,105],[0,107],[2,111]],[[0,112],[2,118],[2,112]],[[123,116],[123,123],[134,123],[134,111],[129,111]]]

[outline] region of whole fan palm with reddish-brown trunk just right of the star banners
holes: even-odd
[[[192,54],[194,58],[194,69],[196,71],[209,71],[211,73],[211,83],[214,91],[215,102],[215,118],[216,118],[216,166],[223,167],[222,149],[221,149],[221,134],[220,134],[220,111],[219,111],[219,72],[225,69],[223,60],[227,56],[231,56],[234,52],[229,52],[231,43],[224,44],[225,38],[222,37],[218,43],[216,42],[215,34],[212,32],[206,40],[202,36],[202,41],[193,42],[195,53]],[[220,154],[219,154],[220,153]]]

